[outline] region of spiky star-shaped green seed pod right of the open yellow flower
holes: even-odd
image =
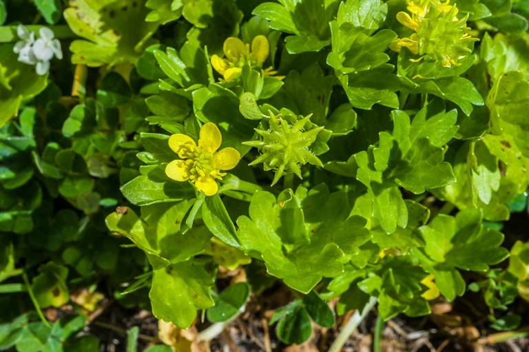
[[[312,114],[295,121],[292,125],[284,121],[281,115],[274,116],[269,110],[269,130],[255,129],[260,134],[260,141],[249,141],[242,144],[259,149],[261,155],[249,165],[264,164],[264,170],[274,170],[276,176],[272,185],[275,185],[282,175],[296,174],[301,177],[301,165],[306,163],[323,166],[320,159],[309,149],[316,136],[323,127],[315,127],[304,131],[304,126],[309,123]]]

